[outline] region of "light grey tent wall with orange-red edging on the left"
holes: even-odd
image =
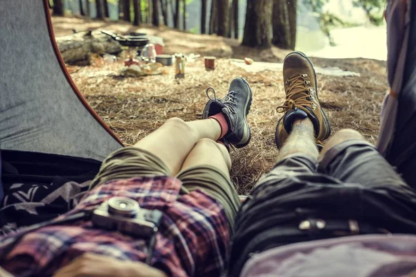
[[[103,161],[121,148],[65,69],[48,1],[8,1],[0,15],[0,149]]]

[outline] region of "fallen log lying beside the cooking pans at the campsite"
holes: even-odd
[[[93,53],[116,55],[122,50],[119,42],[98,30],[56,37],[56,42],[64,62],[67,64],[78,62],[88,64]]]

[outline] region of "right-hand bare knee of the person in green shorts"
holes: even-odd
[[[217,168],[229,177],[231,169],[231,159],[227,148],[211,139],[201,139],[189,152],[185,159],[181,171],[193,166],[211,166]]]

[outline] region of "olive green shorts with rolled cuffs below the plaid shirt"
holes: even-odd
[[[112,152],[103,161],[100,171],[89,188],[92,189],[99,184],[116,179],[159,176],[171,177],[171,173],[161,159],[146,150],[126,147]],[[187,168],[175,177],[182,181],[182,195],[199,188],[216,199],[223,206],[229,226],[234,230],[234,218],[239,211],[240,200],[229,177],[211,166]]]

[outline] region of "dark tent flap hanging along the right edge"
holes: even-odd
[[[394,9],[395,8],[395,9]],[[391,1],[388,22],[388,95],[381,114],[378,148],[416,188],[416,3]]]

